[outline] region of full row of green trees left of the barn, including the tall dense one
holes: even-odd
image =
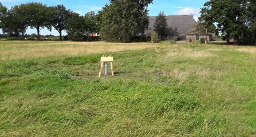
[[[153,0],[122,1],[110,0],[98,14],[91,11],[79,15],[66,10],[64,5],[46,6],[42,3],[16,5],[7,10],[0,3],[0,28],[3,33],[24,37],[28,27],[37,30],[53,28],[61,33],[66,31],[73,41],[84,41],[92,33],[100,32],[102,37],[111,42],[128,42],[136,33],[144,33],[148,28],[148,5]]]

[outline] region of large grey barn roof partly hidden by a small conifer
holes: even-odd
[[[154,30],[154,23],[157,16],[150,16],[149,29],[145,30],[145,35],[150,35]],[[168,24],[167,35],[185,35],[197,23],[193,15],[172,15],[166,16]]]

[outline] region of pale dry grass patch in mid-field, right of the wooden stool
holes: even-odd
[[[212,50],[197,50],[189,47],[181,47],[181,45],[173,45],[168,47],[168,52],[166,55],[161,55],[159,57],[158,62],[161,62],[162,64],[172,65],[173,61],[177,58],[183,58],[184,61],[186,61],[188,59],[215,57],[218,57],[218,55],[214,54]],[[189,69],[173,68],[169,70],[168,67],[165,68],[166,72],[169,71],[169,76],[171,76],[173,79],[179,80],[179,85],[184,83],[184,81],[186,81],[189,76],[197,76],[197,78],[199,78],[200,80],[205,80],[214,73],[212,70],[204,67],[199,67],[196,64],[188,66],[187,62],[181,63],[180,66],[186,66]]]

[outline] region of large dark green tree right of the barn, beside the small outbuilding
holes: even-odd
[[[206,27],[209,24],[216,23],[216,33],[221,33],[222,38],[230,43],[234,39],[236,44],[246,44],[248,41],[250,10],[249,2],[246,0],[211,0],[201,8],[201,17],[199,20],[205,22]]]

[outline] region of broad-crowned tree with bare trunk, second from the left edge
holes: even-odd
[[[51,18],[54,14],[52,7],[47,7],[42,3],[27,3],[26,4],[26,15],[28,16],[28,25],[30,28],[37,30],[37,40],[40,40],[40,29],[48,28],[51,30]]]

